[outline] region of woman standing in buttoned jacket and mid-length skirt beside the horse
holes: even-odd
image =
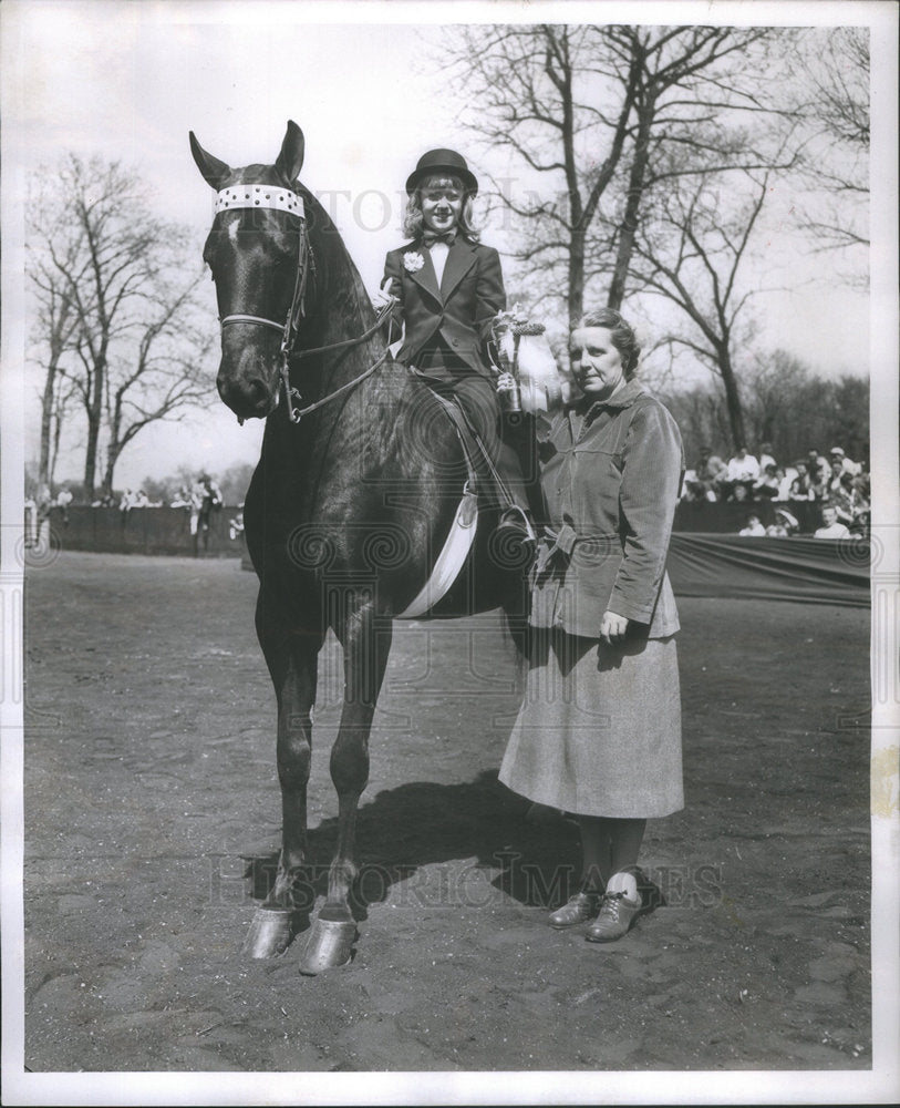
[[[510,789],[577,815],[580,888],[549,923],[593,921],[591,942],[627,933],[646,820],[684,803],[665,573],[684,462],[674,420],[635,380],[639,353],[609,308],[572,332],[583,396],[550,432],[554,544],[538,560],[527,691],[500,768]]]

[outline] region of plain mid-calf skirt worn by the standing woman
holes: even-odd
[[[683,808],[674,636],[610,647],[558,628],[532,634],[504,784],[579,815],[639,819]]]

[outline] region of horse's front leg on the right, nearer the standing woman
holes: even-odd
[[[391,650],[391,620],[379,618],[371,603],[358,607],[335,630],[344,652],[344,705],[331,750],[331,779],[338,792],[338,844],[329,870],[328,897],[310,932],[300,966],[307,974],[343,965],[355,938],[350,892],[359,872],[356,811],[369,783],[369,732]]]

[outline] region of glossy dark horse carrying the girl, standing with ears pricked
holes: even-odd
[[[475,529],[462,575],[427,616],[525,611],[521,551],[472,519],[473,466],[444,402],[395,362],[362,280],[322,206],[299,182],[292,122],[275,165],[232,170],[194,134],[216,189],[204,258],[221,322],[218,391],[239,420],[266,419],[247,493],[247,546],[259,576],[256,627],[278,700],[282,849],[246,948],[281,953],[296,926],[307,861],[317,656],[332,628],[343,647],[344,702],[331,751],[339,833],[306,973],[345,962],[355,937],[354,831],[369,778],[369,733],[392,619],[417,615],[454,532]],[[416,603],[416,602],[422,603]]]

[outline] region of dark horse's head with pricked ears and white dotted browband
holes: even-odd
[[[309,266],[304,203],[297,177],[303,133],[289,122],[275,165],[232,170],[190,133],[190,151],[216,189],[204,260],[216,283],[221,362],[216,384],[238,419],[278,406],[285,352],[302,315]]]

